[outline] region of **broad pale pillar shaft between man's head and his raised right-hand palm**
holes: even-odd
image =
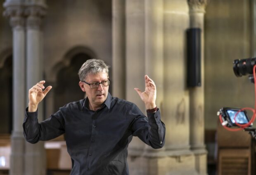
[[[145,112],[134,87],[145,89],[145,0],[126,0],[126,99]],[[130,148],[143,150],[145,145],[137,137]],[[132,152],[132,151],[131,151]]]

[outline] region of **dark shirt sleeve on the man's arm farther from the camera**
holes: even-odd
[[[37,143],[39,140],[51,140],[65,132],[64,119],[62,112],[59,110],[47,120],[38,122],[38,111],[28,112],[26,108],[25,118],[23,122],[23,133],[25,139],[29,143]]]

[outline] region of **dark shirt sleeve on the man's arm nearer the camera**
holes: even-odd
[[[155,113],[147,113],[147,117],[135,105],[128,109],[129,117],[133,117],[130,128],[132,135],[137,136],[147,145],[158,149],[165,143],[165,125],[161,121],[160,110]]]

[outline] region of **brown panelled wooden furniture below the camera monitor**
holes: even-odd
[[[218,175],[254,175],[254,139],[246,131],[217,128]]]

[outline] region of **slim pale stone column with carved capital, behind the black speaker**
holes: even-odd
[[[207,0],[188,0],[190,28],[201,29],[201,87],[190,92],[190,145],[195,155],[199,174],[206,174],[206,149],[204,145],[204,13]]]

